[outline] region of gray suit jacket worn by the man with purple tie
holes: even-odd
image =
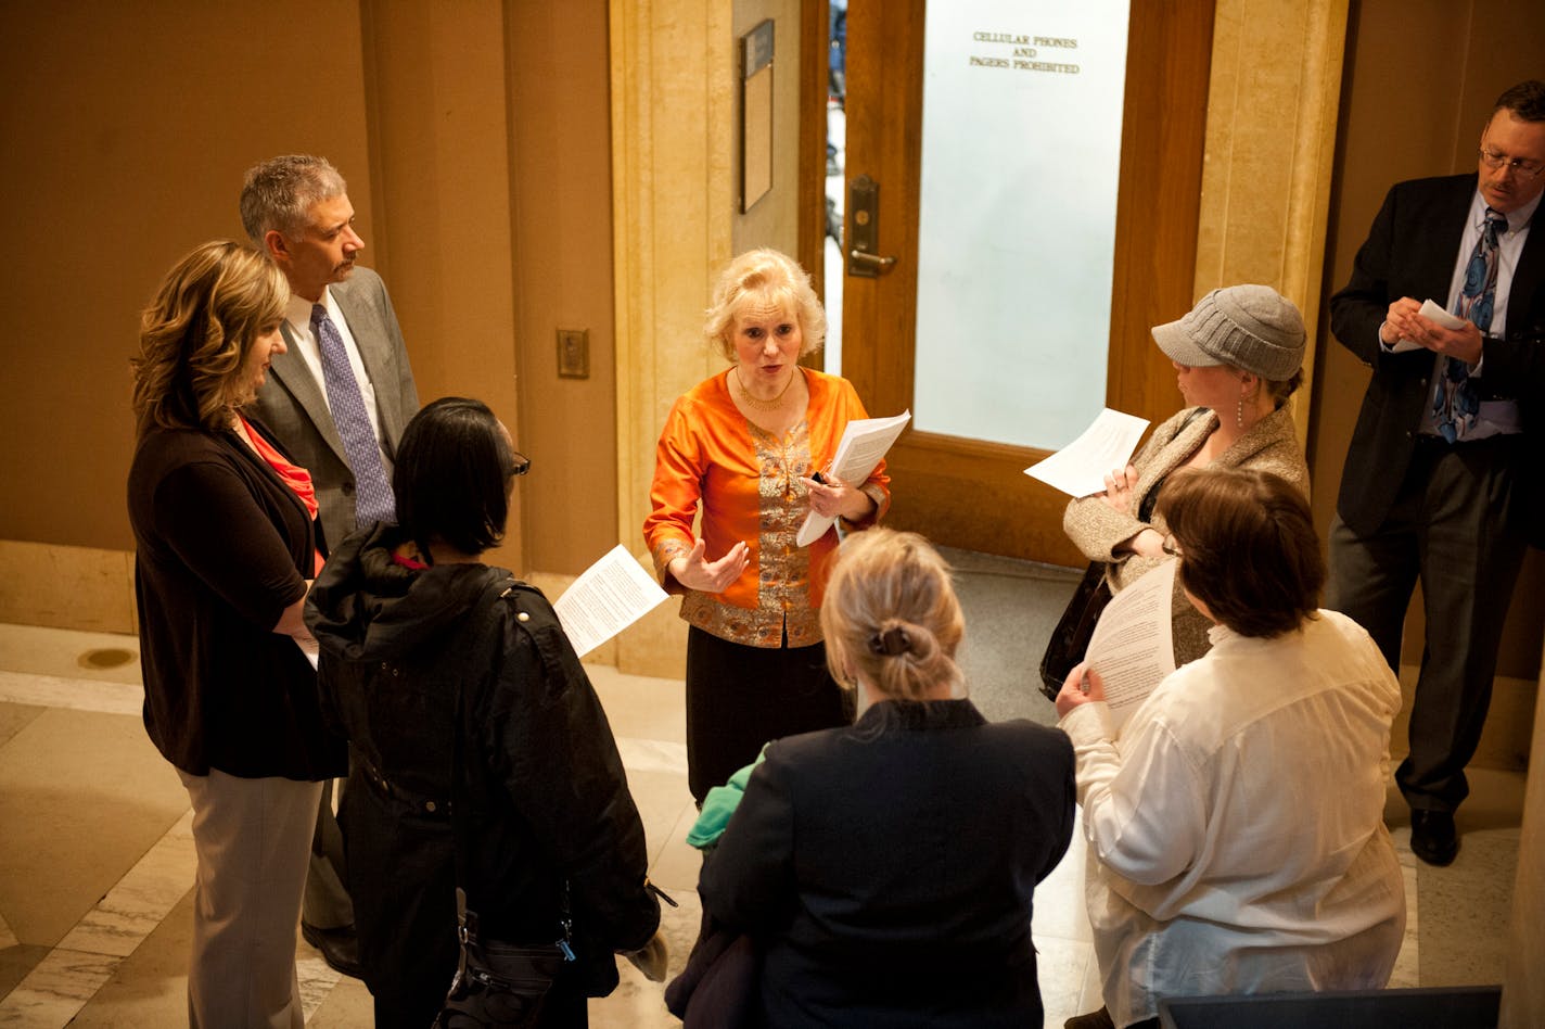
[[[328,289],[360,348],[360,360],[375,389],[382,450],[391,457],[397,453],[403,428],[419,411],[419,392],[413,385],[408,348],[402,341],[386,286],[371,269],[355,267],[346,281]],[[312,377],[295,349],[289,323],[281,328],[289,352],[273,357],[269,380],[258,391],[255,406],[295,464],[311,473],[317,504],[321,507],[323,536],[332,547],[354,531],[354,473],[328,411],[323,385]]]

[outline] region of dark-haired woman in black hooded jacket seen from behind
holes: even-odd
[[[343,541],[306,606],[323,709],[349,739],[338,820],[377,1026],[430,1024],[456,973],[453,793],[480,935],[552,944],[572,922],[578,959],[539,1024],[584,1026],[586,997],[616,986],[613,953],[646,947],[660,922],[590,680],[541,592],[479,559],[527,467],[484,403],[428,405],[397,453],[402,525]]]

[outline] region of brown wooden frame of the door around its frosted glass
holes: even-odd
[[[823,8],[806,5],[822,26]],[[850,187],[861,175],[879,184],[878,250],[898,258],[878,278],[844,280],[842,374],[874,416],[913,406],[924,14],[925,0],[848,5],[845,176]],[[1211,2],[1131,5],[1106,405],[1156,422],[1180,403],[1174,371],[1148,329],[1194,300],[1211,36]],[[817,83],[811,68],[806,82],[823,99],[823,62],[819,74]],[[814,105],[805,110],[810,117]],[[805,139],[814,150],[820,136],[811,128]],[[803,167],[814,201],[822,165],[811,155]],[[851,210],[847,218],[851,241]],[[887,524],[952,547],[1082,564],[1061,530],[1068,498],[1023,474],[1046,454],[908,428],[888,456]]]

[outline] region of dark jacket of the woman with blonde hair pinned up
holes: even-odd
[[[1031,899],[1072,811],[1060,729],[885,701],[768,748],[698,890],[762,939],[769,1026],[1038,1026]]]

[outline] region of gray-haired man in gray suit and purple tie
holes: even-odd
[[[365,239],[337,168],[323,158],[273,158],[247,172],[241,222],[284,272],[290,306],[256,413],[311,473],[323,545],[358,525],[396,521],[392,457],[419,409],[402,329],[380,275],[355,267]],[[323,791],[301,904],[301,935],[328,964],[358,975],[343,837]]]

